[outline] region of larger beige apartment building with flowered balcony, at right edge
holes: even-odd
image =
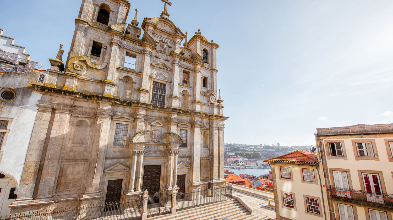
[[[392,126],[317,129],[330,219],[392,219]]]

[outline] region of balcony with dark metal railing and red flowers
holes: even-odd
[[[362,203],[393,209],[393,194],[367,192],[356,189],[334,187],[329,190],[334,200],[344,202]]]

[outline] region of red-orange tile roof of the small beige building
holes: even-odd
[[[285,162],[285,163],[300,163],[300,164],[318,164],[318,154],[307,150],[296,150],[283,156],[270,158],[266,162]]]

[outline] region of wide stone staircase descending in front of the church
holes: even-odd
[[[228,200],[209,205],[202,205],[191,209],[177,211],[175,214],[152,216],[147,220],[271,220],[267,216],[257,213],[251,214],[237,200]]]

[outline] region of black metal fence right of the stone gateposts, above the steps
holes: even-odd
[[[207,205],[215,202],[222,202],[231,199],[232,186],[225,185],[212,189],[198,189],[192,192],[183,192],[176,195],[178,211]]]

